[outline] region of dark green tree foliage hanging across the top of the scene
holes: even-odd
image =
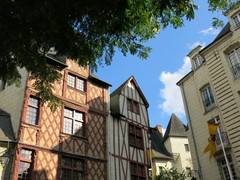
[[[217,11],[232,1],[208,2]],[[109,65],[116,49],[146,59],[151,49],[142,43],[194,19],[197,8],[193,0],[1,0],[0,80],[17,83],[18,68],[26,68],[39,95],[54,101],[51,83],[61,75],[46,61],[50,48],[94,70]]]

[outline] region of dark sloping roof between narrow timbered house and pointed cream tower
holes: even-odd
[[[172,159],[171,154],[168,152],[163,144],[163,136],[157,128],[151,128],[151,148],[155,158]]]

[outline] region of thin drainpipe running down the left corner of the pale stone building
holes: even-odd
[[[183,95],[183,102],[184,102],[184,105],[185,105],[185,110],[186,110],[186,115],[187,115],[187,119],[188,119],[188,123],[189,123],[189,128],[191,130],[191,134],[192,134],[192,137],[193,137],[194,149],[196,151],[197,164],[198,164],[198,167],[199,167],[199,178],[201,180],[203,180],[203,178],[202,178],[202,168],[201,168],[200,160],[199,160],[199,157],[198,157],[198,149],[197,149],[197,145],[196,145],[196,141],[195,141],[195,135],[193,133],[192,122],[191,122],[191,118],[190,118],[190,113],[189,113],[188,104],[187,104],[187,101],[186,101],[186,95],[185,95],[183,84],[180,85],[180,88],[181,88],[182,95]]]

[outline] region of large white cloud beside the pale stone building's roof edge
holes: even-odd
[[[159,108],[165,113],[171,115],[175,113],[177,116],[184,115],[184,107],[180,88],[176,83],[191,70],[191,62],[188,57],[183,59],[182,67],[174,72],[162,72],[159,80],[164,84],[164,88],[160,89],[160,96],[163,102],[159,104]]]

